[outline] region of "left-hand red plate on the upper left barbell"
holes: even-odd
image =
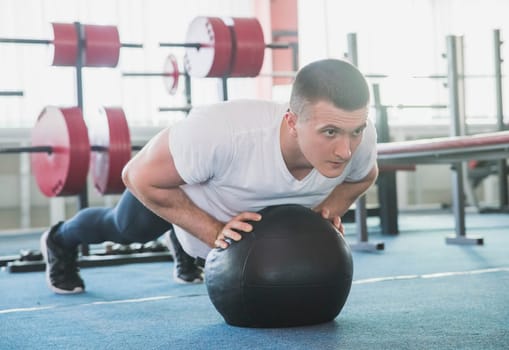
[[[78,33],[73,23],[51,23],[53,27],[53,66],[76,66]]]

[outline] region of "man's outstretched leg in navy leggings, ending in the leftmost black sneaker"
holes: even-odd
[[[49,287],[59,294],[81,293],[85,285],[77,266],[78,246],[105,241],[146,243],[172,230],[172,225],[125,191],[114,208],[85,208],[51,227],[41,237]],[[174,257],[175,266],[178,258]],[[195,275],[201,269],[195,267]],[[201,275],[200,275],[201,276]],[[193,278],[194,280],[194,278]]]

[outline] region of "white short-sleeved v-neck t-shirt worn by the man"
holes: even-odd
[[[227,222],[235,215],[270,205],[312,208],[343,181],[364,178],[376,161],[371,122],[343,174],[322,176],[315,169],[295,179],[283,160],[280,127],[288,104],[234,100],[194,108],[171,127],[170,151],[186,185],[182,189],[201,209]],[[184,250],[205,258],[210,248],[174,225]]]

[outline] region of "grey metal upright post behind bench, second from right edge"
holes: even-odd
[[[451,113],[450,136],[465,135],[465,91],[463,37],[449,35],[447,40],[447,86]],[[456,235],[446,238],[450,244],[483,244],[482,238],[467,238],[465,230],[464,164],[452,164],[452,206]]]

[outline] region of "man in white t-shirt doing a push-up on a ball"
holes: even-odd
[[[321,212],[343,232],[341,216],[378,175],[368,104],[362,74],[326,59],[299,71],[289,104],[237,100],[194,108],[124,168],[128,191],[111,215],[117,226],[129,222],[129,234],[105,230],[93,243],[149,240],[164,232],[158,221],[165,229],[171,223],[185,253],[204,259],[211,248],[241,239],[238,231],[251,231],[247,221],[263,219],[258,210],[289,203]],[[91,243],[73,232],[43,236],[53,265],[59,257],[51,245],[69,251]],[[54,286],[57,274],[47,270]]]

